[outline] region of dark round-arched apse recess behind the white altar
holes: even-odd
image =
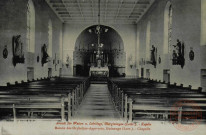
[[[122,38],[113,28],[100,25],[99,45],[97,26],[86,28],[76,40],[73,54],[74,75],[89,76],[91,67],[108,67],[110,77],[125,76],[126,54]]]

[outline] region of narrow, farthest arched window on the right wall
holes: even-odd
[[[151,29],[150,26],[151,23],[150,21],[147,23],[147,31],[146,31],[146,59],[150,59],[150,36],[151,36]]]

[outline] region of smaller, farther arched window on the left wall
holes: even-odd
[[[52,21],[48,22],[48,54],[52,57]]]

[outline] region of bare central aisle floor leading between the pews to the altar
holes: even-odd
[[[120,119],[119,113],[115,111],[112,104],[107,84],[90,85],[75,119]]]

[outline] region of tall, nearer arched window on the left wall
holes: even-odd
[[[32,0],[27,4],[27,45],[28,52],[35,52],[35,9]]]

